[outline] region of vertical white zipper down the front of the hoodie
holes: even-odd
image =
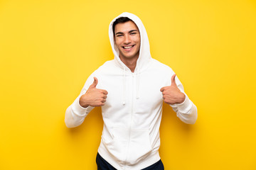
[[[127,147],[127,158],[124,162],[124,169],[126,169],[127,166],[127,159],[129,156],[129,145],[130,145],[130,139],[131,139],[131,131],[132,131],[132,115],[134,113],[134,73],[132,72],[132,108],[131,108],[131,118],[129,122],[129,136],[128,136],[128,147]]]

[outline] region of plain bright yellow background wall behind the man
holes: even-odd
[[[64,114],[112,60],[108,26],[123,11],[198,107],[186,125],[164,104],[165,169],[256,169],[256,1],[242,0],[1,0],[0,169],[96,169],[100,108],[74,129]]]

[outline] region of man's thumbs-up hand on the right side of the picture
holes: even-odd
[[[171,77],[171,86],[164,86],[160,89],[163,94],[164,102],[167,104],[183,103],[185,94],[183,94],[175,82],[176,74]]]

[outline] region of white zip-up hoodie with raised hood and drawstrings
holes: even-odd
[[[126,16],[136,23],[141,36],[139,59],[134,72],[119,59],[114,45],[113,22]],[[107,101],[102,106],[104,127],[99,154],[116,169],[144,169],[159,161],[159,127],[163,96],[160,89],[171,85],[173,70],[151,58],[149,39],[142,21],[132,13],[122,13],[110,23],[109,35],[114,60],[105,62],[85,82],[80,96],[85,94],[97,77],[98,89],[107,90]],[[176,77],[178,88],[184,93]],[[185,93],[184,93],[185,94]],[[65,123],[68,128],[80,125],[92,107],[82,108],[79,98],[68,107]],[[193,124],[197,119],[196,106],[188,96],[183,103],[171,105],[178,118]]]

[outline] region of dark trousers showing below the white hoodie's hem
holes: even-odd
[[[106,162],[106,160],[103,159],[99,153],[97,153],[96,163],[97,163],[97,170],[117,170],[111,164]],[[161,162],[161,159],[160,159],[159,162],[156,162],[151,166],[148,166],[142,170],[164,170],[164,164],[163,162]]]

